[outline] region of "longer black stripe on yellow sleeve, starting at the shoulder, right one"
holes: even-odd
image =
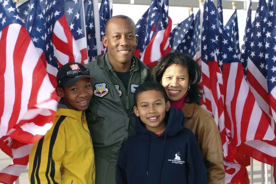
[[[66,116],[60,116],[60,118],[57,120],[57,123],[55,124],[55,127],[53,129],[53,133],[50,139],[50,145],[49,145],[49,154],[48,154],[48,162],[47,162],[47,169],[46,169],[46,179],[48,181],[48,183],[50,184],[50,179],[48,176],[49,173],[49,169],[50,169],[50,164],[51,164],[51,172],[50,172],[50,177],[51,180],[53,181],[54,184],[58,184],[57,182],[55,182],[54,176],[55,176],[55,162],[52,158],[52,154],[53,154],[53,147],[55,144],[55,140],[57,138],[57,133],[58,133],[58,129],[60,128],[60,124],[61,122],[66,118]]]

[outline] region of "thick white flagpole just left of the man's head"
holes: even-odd
[[[97,55],[100,55],[101,54],[101,31],[100,31],[100,16],[99,16],[98,0],[93,1],[93,14],[94,14],[94,22],[95,22]]]

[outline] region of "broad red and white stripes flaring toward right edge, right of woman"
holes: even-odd
[[[223,64],[225,108],[231,121],[232,145],[251,140],[273,140],[275,135],[245,81],[240,63]]]

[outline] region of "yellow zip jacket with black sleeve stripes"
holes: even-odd
[[[64,168],[61,180],[60,168]],[[34,143],[29,156],[31,184],[95,184],[95,162],[84,111],[58,108],[53,127]]]

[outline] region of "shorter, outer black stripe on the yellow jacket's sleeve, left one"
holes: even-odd
[[[40,179],[39,179],[39,167],[40,167],[40,160],[41,160],[41,151],[42,151],[42,145],[43,145],[43,140],[44,136],[39,140],[38,145],[37,145],[37,150],[35,151],[34,155],[34,163],[32,166],[32,174],[30,177],[30,183],[34,184],[34,178],[37,179],[37,184],[40,184]],[[34,177],[34,172],[35,172],[35,177]]]

